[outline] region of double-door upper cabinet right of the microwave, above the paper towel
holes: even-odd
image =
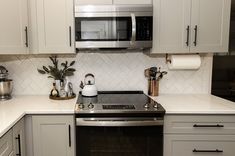
[[[231,0],[155,0],[152,53],[227,52]]]

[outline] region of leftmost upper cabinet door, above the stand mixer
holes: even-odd
[[[25,54],[27,0],[0,0],[0,54]]]

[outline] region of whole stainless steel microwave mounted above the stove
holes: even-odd
[[[151,48],[152,5],[75,6],[76,48]]]

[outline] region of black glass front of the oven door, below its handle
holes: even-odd
[[[162,126],[79,127],[77,156],[162,156]]]

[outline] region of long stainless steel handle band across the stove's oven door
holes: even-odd
[[[134,126],[162,126],[163,119],[118,119],[118,118],[76,118],[76,126],[96,127],[134,127]]]

